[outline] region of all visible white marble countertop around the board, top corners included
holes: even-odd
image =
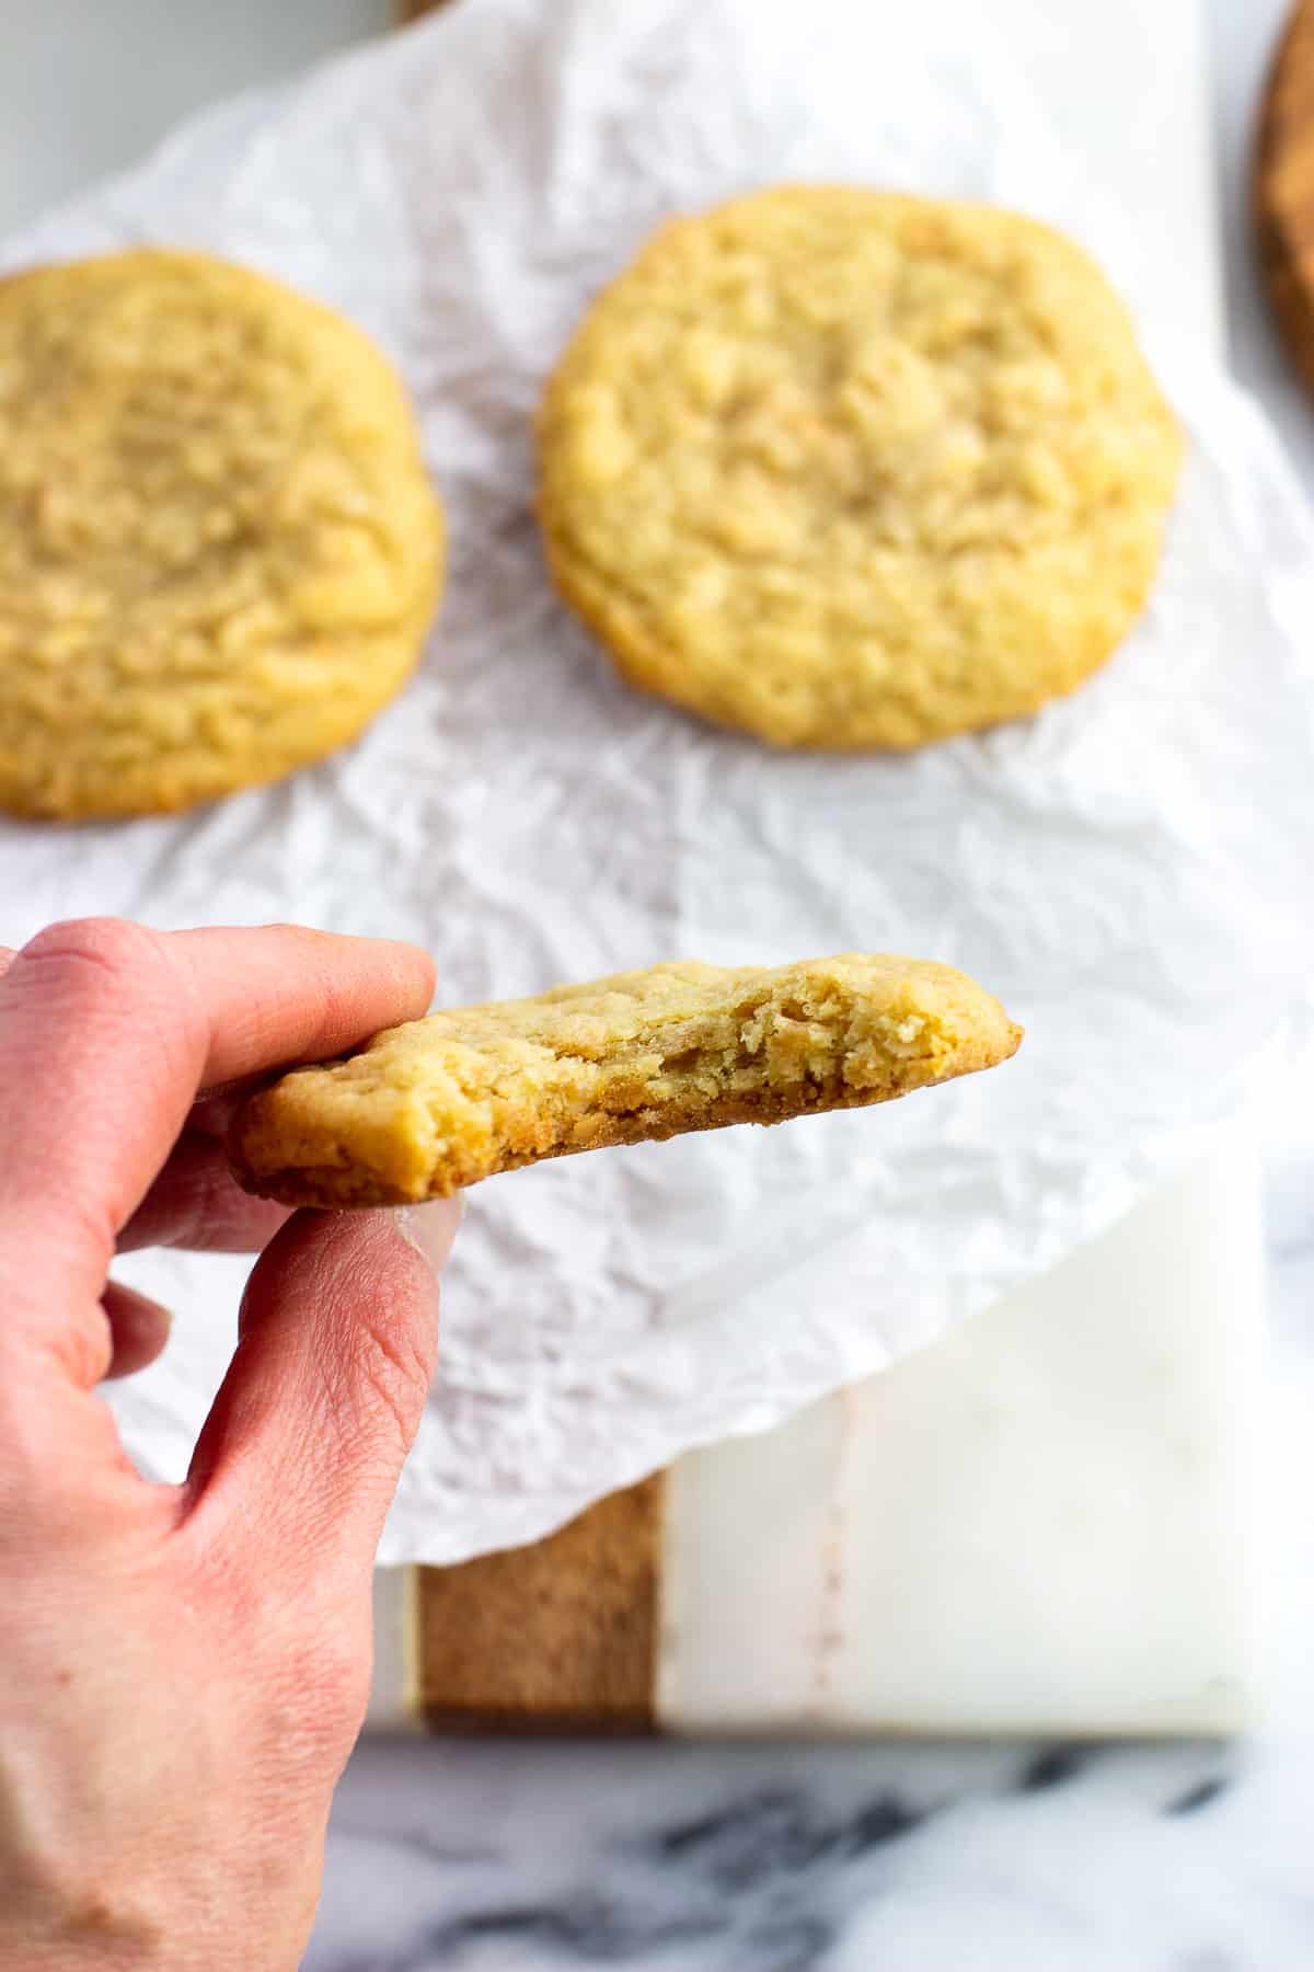
[[[1149,0],[1147,0],[1149,4]],[[384,0],[2,8],[0,227]],[[1233,363],[1314,491],[1261,312],[1249,120],[1282,0],[1210,0]],[[150,49],[124,65],[122,49]],[[124,69],[132,73],[124,73]],[[102,89],[106,73],[124,87]],[[1314,1966],[1314,1128],[1275,1118],[1271,1708],[1241,1745],[362,1743],[309,1972],[1308,1972]]]

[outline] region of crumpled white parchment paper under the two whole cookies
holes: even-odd
[[[890,1108],[477,1187],[384,1560],[536,1538],[1050,1266],[1237,1112],[1304,1004],[1314,540],[1259,414],[1145,310],[1192,444],[1166,564],[1107,670],[1036,720],[910,759],[766,753],[632,694],[544,580],[540,381],[674,209],[786,177],[1001,199],[1137,306],[1135,215],[1099,209],[987,14],[465,0],[203,116],[0,254],[187,243],[339,306],[400,363],[453,534],[426,665],[357,747],[177,820],[2,826],[2,939],[292,917],[427,945],[443,1002],[887,949],[967,968],[1028,1027],[1009,1067]],[[114,1398],[160,1477],[242,1272],[124,1268],[179,1311]]]

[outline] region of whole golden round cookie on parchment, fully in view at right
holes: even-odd
[[[1145,603],[1180,463],[1072,241],[823,185],[662,227],[575,331],[538,440],[552,576],[621,670],[812,747],[1072,690]]]

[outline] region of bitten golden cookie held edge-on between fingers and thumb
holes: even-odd
[[[264,1197],[398,1205],[577,1150],[887,1102],[1020,1037],[922,958],[666,964],[390,1027],[252,1096],[229,1148]]]

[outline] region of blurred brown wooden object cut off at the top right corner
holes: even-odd
[[[1314,0],[1296,0],[1265,85],[1251,199],[1286,349],[1314,388]]]

